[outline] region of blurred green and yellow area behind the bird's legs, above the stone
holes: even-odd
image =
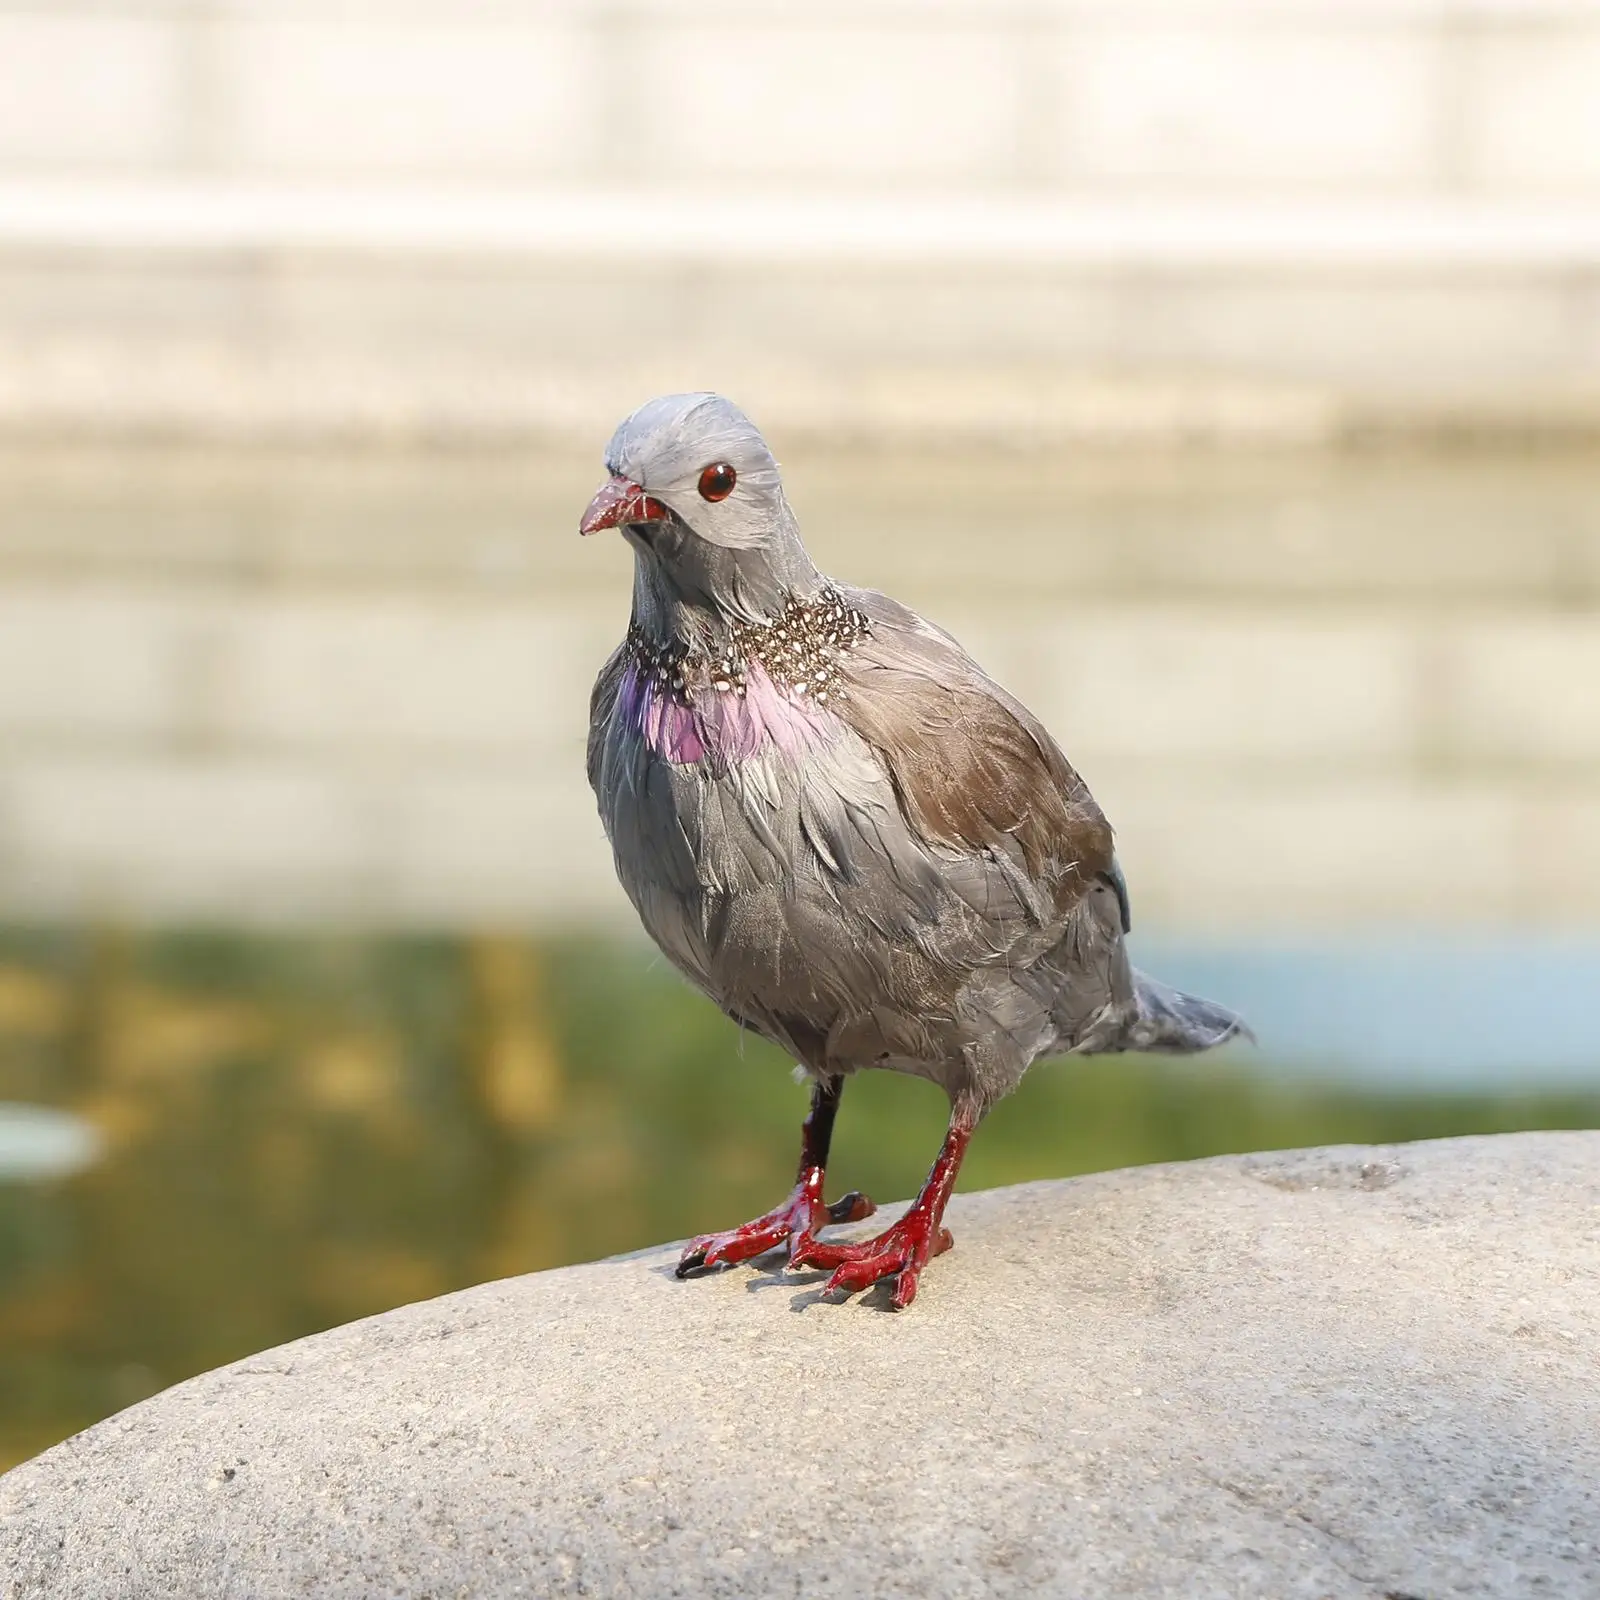
[[[38,930],[0,934],[0,1099],[107,1146],[0,1184],[0,1466],[336,1322],[744,1221],[786,1192],[806,1102],[634,942]],[[832,1189],[910,1194],[944,1115],[925,1083],[851,1083]],[[1102,1058],[1035,1069],[962,1187],[1597,1123],[1600,1096]]]

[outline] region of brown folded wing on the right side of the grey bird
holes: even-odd
[[[1110,824],[1088,784],[947,634],[882,595],[850,598],[872,632],[845,658],[837,709],[878,752],[906,819],[949,850],[1014,846],[1066,909],[1112,870]]]

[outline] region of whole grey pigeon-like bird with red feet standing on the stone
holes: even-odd
[[[690,1240],[694,1277],[787,1248],[824,1294],[949,1250],[944,1210],[984,1115],[1046,1056],[1187,1054],[1248,1035],[1138,971],[1110,824],[1032,712],[899,602],[822,574],[766,440],[731,400],[638,406],[579,531],[634,552],[632,616],[589,707],[587,771],[618,878],[666,958],[811,1085],[794,1189]],[[950,1118],[909,1210],[824,1178],[845,1083],[888,1070]]]

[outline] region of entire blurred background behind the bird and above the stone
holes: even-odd
[[[1600,5],[0,0],[0,1466],[784,1190],[582,778],[691,387],[1261,1035],[966,1187],[1600,1122]]]

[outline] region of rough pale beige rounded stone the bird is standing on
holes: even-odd
[[[882,1290],[490,1283],[0,1480],[6,1597],[1600,1595],[1600,1133],[957,1200]]]

